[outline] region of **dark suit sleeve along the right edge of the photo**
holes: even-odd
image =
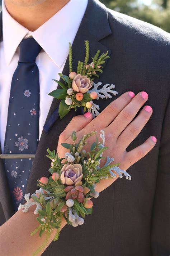
[[[170,103],[162,126],[151,225],[153,256],[170,256]]]

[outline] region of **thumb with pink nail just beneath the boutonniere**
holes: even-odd
[[[86,125],[88,125],[88,123],[91,122],[91,120],[93,120],[93,116],[90,112],[86,112],[80,116],[74,116],[65,130],[62,132],[62,136],[65,137],[65,140],[67,140],[73,131],[81,131]]]

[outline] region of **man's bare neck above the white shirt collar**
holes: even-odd
[[[22,26],[35,31],[70,0],[4,0],[9,14]],[[67,17],[65,17],[67,18]],[[61,21],[62,22],[62,21]]]

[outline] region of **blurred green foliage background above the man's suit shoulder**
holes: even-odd
[[[100,0],[100,2],[116,12],[141,19],[170,33],[170,0]]]

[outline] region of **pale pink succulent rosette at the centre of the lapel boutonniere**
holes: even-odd
[[[72,89],[78,93],[86,93],[91,87],[92,84],[87,76],[77,74],[72,81]]]

